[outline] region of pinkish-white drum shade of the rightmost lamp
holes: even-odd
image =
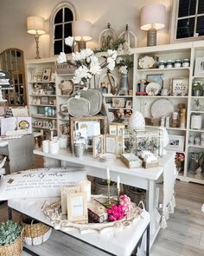
[[[140,10],[140,29],[150,30],[152,25],[154,29],[160,30],[165,27],[166,6],[160,3],[145,5]]]

